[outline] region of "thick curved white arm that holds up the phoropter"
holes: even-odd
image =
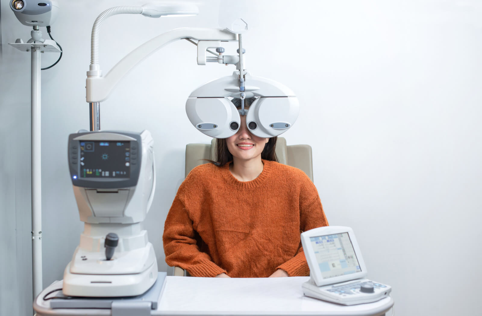
[[[163,33],[147,41],[122,58],[106,76],[100,76],[100,71],[87,72],[86,101],[102,102],[107,99],[112,89],[131,69],[150,54],[174,40],[189,38],[193,40],[236,41],[238,34],[228,30],[215,28],[183,27]]]

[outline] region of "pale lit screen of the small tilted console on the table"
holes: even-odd
[[[348,233],[309,239],[324,279],[362,272]]]

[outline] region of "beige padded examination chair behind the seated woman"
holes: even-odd
[[[186,145],[186,169],[185,177],[187,174],[196,166],[203,163],[207,163],[206,160],[201,159],[211,159],[214,160],[215,157],[215,142],[216,139],[213,138],[211,144],[187,144]],[[305,171],[308,177],[313,181],[313,161],[311,155],[310,145],[286,145],[286,139],[283,137],[278,137],[276,141],[276,156],[280,163],[285,165],[293,166],[298,169]],[[174,276],[189,276],[189,273],[175,266]]]

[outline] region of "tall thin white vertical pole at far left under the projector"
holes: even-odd
[[[32,285],[35,299],[43,288],[40,49],[32,48],[31,56]]]

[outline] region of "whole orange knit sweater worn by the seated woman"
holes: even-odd
[[[241,182],[229,164],[194,168],[164,224],[166,263],[194,277],[269,277],[276,269],[308,276],[300,232],[326,226],[320,197],[305,172],[263,160]]]

